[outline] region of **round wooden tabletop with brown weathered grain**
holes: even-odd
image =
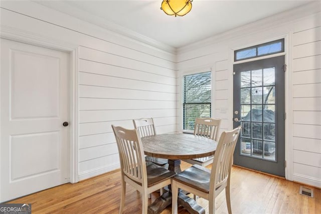
[[[157,158],[193,159],[214,155],[217,142],[191,134],[161,134],[141,138],[144,154]]]

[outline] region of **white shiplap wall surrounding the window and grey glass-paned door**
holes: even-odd
[[[320,8],[320,3],[317,6]],[[314,12],[290,22],[275,17],[262,23],[232,31],[230,39],[225,33],[213,42],[204,41],[206,45],[201,41],[199,47],[193,45],[180,49],[177,56],[179,77],[190,70],[212,67],[213,117],[223,119],[222,131],[232,129],[233,50],[285,37],[289,72],[285,83],[285,100],[289,100],[286,103],[289,111],[286,176],[290,180],[321,187],[321,14]],[[273,26],[267,28],[271,23]],[[178,116],[178,122],[182,121],[182,112]]]

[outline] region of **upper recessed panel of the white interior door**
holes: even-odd
[[[12,49],[11,59],[11,119],[59,117],[60,58]]]

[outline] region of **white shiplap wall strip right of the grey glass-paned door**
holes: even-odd
[[[293,180],[321,186],[321,16],[292,35]]]

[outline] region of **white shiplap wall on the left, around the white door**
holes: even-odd
[[[79,179],[119,168],[111,125],[133,128],[153,117],[156,132],[176,132],[175,54],[135,42],[36,3],[2,2],[1,26],[79,47]]]

